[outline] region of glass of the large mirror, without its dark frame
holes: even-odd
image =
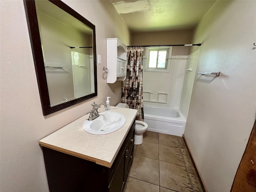
[[[35,4],[50,106],[95,93],[92,28],[48,0]]]

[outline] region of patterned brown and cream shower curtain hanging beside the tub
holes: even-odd
[[[142,98],[143,47],[127,49],[126,80],[122,83],[122,103],[138,110],[136,120],[144,121]]]

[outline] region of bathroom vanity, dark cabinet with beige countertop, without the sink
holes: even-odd
[[[50,192],[124,191],[134,156],[137,110],[111,106],[110,111],[126,117],[115,132],[85,132],[82,125],[89,117],[85,115],[39,141]]]

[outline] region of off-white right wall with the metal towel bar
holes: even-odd
[[[256,1],[217,1],[196,28],[202,42],[185,137],[209,192],[228,192],[256,118]]]

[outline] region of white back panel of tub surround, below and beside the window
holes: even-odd
[[[145,57],[145,62],[146,59]],[[169,60],[169,72],[143,72],[144,105],[174,109],[180,108],[188,56],[171,56]]]

